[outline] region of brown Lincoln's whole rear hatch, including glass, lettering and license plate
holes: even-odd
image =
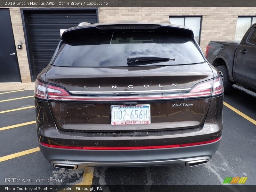
[[[178,130],[204,124],[212,95],[212,70],[191,30],[157,26],[132,30],[92,27],[83,28],[83,32],[78,28],[76,35],[76,30],[69,36],[68,32],[63,34],[45,76],[58,129],[100,134]],[[128,57],[140,55],[174,60],[127,62]],[[113,125],[113,105],[149,106],[149,122],[142,118],[142,123],[150,124]],[[131,110],[129,113],[131,117]],[[137,113],[140,116],[143,112]]]

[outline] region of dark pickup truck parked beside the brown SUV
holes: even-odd
[[[211,41],[205,57],[222,76],[224,92],[231,87],[256,97],[256,23],[242,41]]]

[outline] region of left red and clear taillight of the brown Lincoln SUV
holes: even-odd
[[[56,99],[56,97],[60,96],[70,96],[70,94],[64,88],[51,84],[45,84],[36,80],[35,97],[47,99],[46,92],[49,99]]]

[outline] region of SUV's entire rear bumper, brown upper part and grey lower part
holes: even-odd
[[[44,107],[39,108],[37,106]],[[220,138],[223,128],[222,107],[223,95],[212,98],[204,124],[198,128],[130,133],[62,132],[56,127],[52,119],[47,101],[36,100],[36,132],[39,143],[72,147],[72,149],[56,148],[39,144],[43,155],[52,164],[73,164],[77,165],[79,169],[85,166],[164,164],[186,166],[187,161],[193,161],[195,158],[207,159],[207,161],[212,158],[219,147],[220,140],[193,146],[173,147],[173,145],[180,144],[181,146],[181,144],[200,143]],[[138,149],[138,147],[166,147],[166,145],[172,147]],[[102,150],[99,149],[100,147],[108,147],[109,149]],[[137,147],[137,149],[112,150],[112,148],[122,147]]]

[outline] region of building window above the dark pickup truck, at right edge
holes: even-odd
[[[256,23],[256,17],[238,17],[236,23],[235,41],[241,41],[246,31]]]

